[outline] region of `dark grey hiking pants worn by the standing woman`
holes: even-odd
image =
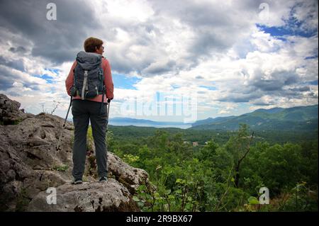
[[[74,179],[82,179],[86,160],[86,134],[91,122],[92,135],[94,138],[96,163],[99,177],[107,176],[106,165],[106,124],[107,103],[103,103],[100,114],[101,102],[73,100],[72,115],[74,123],[74,146],[73,146],[73,170]]]

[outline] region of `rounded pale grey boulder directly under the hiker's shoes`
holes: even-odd
[[[56,189],[56,204],[49,193],[39,193],[28,205],[28,211],[46,212],[116,212],[138,211],[128,189],[114,179],[106,183],[65,183]],[[47,203],[47,198],[51,204]]]

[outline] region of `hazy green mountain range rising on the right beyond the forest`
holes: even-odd
[[[192,124],[191,130],[237,130],[245,123],[252,130],[318,130],[318,105],[258,109],[239,116],[207,118]]]

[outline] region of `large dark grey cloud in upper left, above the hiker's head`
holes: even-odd
[[[96,14],[87,1],[57,0],[57,20],[46,18],[51,1],[1,1],[0,26],[32,43],[32,56],[60,64],[73,60],[83,40],[98,29]],[[12,43],[10,50],[23,50]],[[19,49],[18,49],[19,48]]]

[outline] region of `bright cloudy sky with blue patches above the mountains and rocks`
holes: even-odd
[[[316,0],[1,0],[0,94],[65,118],[65,79],[89,37],[111,64],[110,118],[189,123],[318,104]]]

